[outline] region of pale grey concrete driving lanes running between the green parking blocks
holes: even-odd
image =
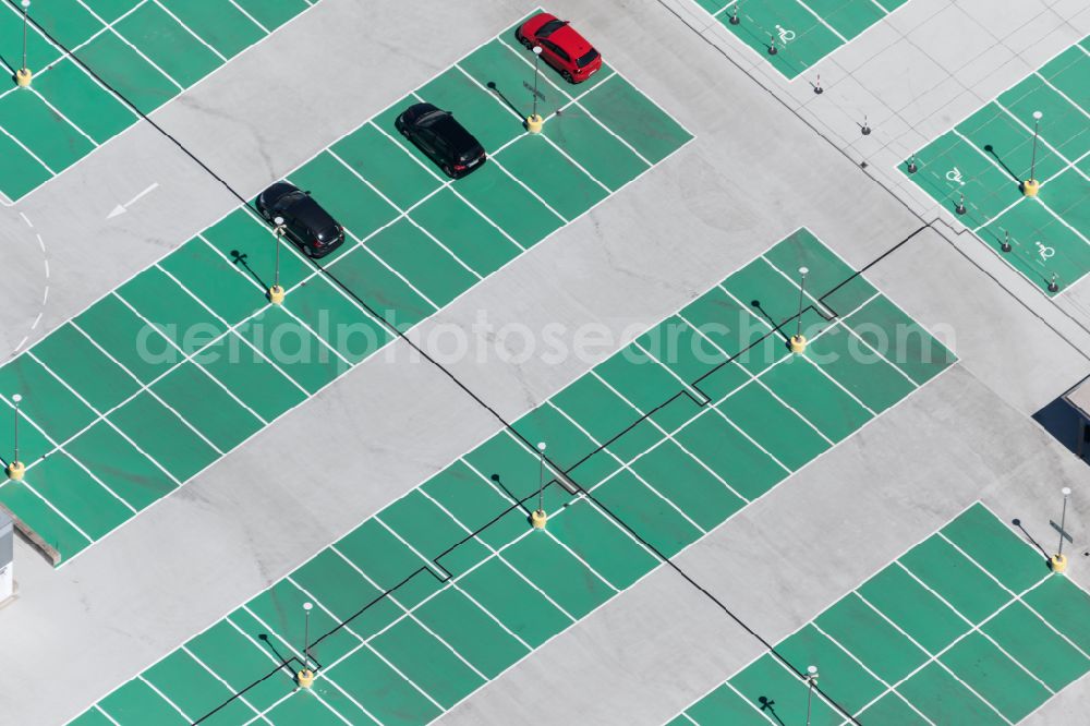
[[[413,331],[427,344],[440,325],[455,325],[485,343],[493,352],[484,360],[450,370],[502,415],[526,411],[799,226],[860,267],[927,221],[875,183],[873,166],[860,169],[820,138],[658,2],[555,5],[697,138]],[[156,120],[252,194],[534,7],[428,2],[428,24],[458,32],[428,34],[422,49],[417,3],[322,0]],[[647,36],[649,27],[656,34]],[[633,37],[646,45],[632,46]],[[304,68],[319,72],[301,86]],[[342,110],[313,112],[332,99]],[[146,205],[106,222],[119,199],[160,177]],[[20,324],[36,315],[23,298],[36,292],[29,280],[40,251],[14,235],[13,226],[25,227],[19,210],[40,226],[63,287],[50,294],[45,331],[233,205],[175,146],[137,126],[16,210],[0,210],[16,213],[3,229],[28,286],[3,314]],[[1047,528],[1041,487],[1069,481],[1090,492],[1086,469],[1026,416],[1090,373],[1082,352],[1090,336],[1041,307],[1040,295],[1017,288],[1020,278],[978,247],[935,226],[869,271],[910,315],[953,331],[958,367],[682,556],[770,640],[962,503],[984,496],[997,511]],[[495,352],[494,337],[473,330],[482,312],[497,328],[558,324],[569,343],[594,323],[609,343],[584,359],[512,362]],[[74,715],[496,429],[443,374],[411,363],[403,343],[391,350],[391,359],[368,361],[61,570],[21,545],[21,596],[0,617],[0,641],[22,671],[0,680],[0,724]],[[316,428],[332,433],[315,440]],[[1077,504],[1076,524],[1087,521],[1083,507]],[[815,543],[810,560],[797,550],[807,535]],[[870,547],[860,556],[863,539]],[[775,567],[765,567],[766,549]],[[1075,568],[1073,577],[1083,576]],[[673,715],[759,652],[682,584],[665,570],[650,576],[450,718],[557,723],[574,714],[586,723],[593,714],[594,723],[652,723]],[[704,648],[707,641],[720,648]],[[541,689],[542,678],[562,688]]]

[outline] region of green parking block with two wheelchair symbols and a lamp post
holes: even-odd
[[[1076,81],[1088,70],[1090,58],[1071,45],[919,149],[915,173],[908,171],[911,159],[898,167],[1047,295],[1090,270],[1083,168],[1090,94]],[[1034,128],[1040,138],[1033,176],[1041,185],[1031,198],[1020,184],[1030,173]],[[959,215],[962,194],[966,211]]]

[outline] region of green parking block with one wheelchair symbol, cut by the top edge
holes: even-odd
[[[907,0],[693,0],[787,78],[813,68]],[[737,15],[737,22],[731,22]],[[775,52],[771,52],[775,48]]]

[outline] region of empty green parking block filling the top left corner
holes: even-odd
[[[8,154],[0,141],[5,161],[14,160],[0,169],[0,193],[19,199],[134,124],[129,104],[154,111],[308,7],[304,0],[34,3],[33,87],[0,90],[0,138],[17,138],[31,155]],[[22,37],[14,3],[0,9],[0,35]]]

